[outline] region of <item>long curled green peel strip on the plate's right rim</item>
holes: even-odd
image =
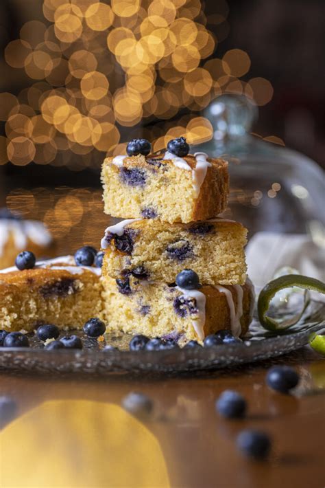
[[[296,324],[298,320],[300,320],[300,318],[302,317],[302,314],[304,313],[309,303],[307,300],[304,302],[304,307],[302,307],[302,311],[298,315],[295,315],[294,318],[289,318],[279,322],[278,320],[267,316],[269,304],[272,298],[274,298],[275,294],[282,289],[292,287],[318,291],[319,293],[325,294],[325,283],[320,280],[316,280],[315,278],[310,278],[309,276],[302,276],[301,274],[287,274],[285,276],[280,276],[279,278],[276,278],[276,280],[270,281],[262,289],[261,293],[258,296],[257,302],[258,319],[260,320],[263,327],[268,331],[279,331],[288,329],[288,327]]]

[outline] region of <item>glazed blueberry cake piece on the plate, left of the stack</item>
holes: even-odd
[[[38,261],[32,269],[0,270],[0,329],[32,331],[40,324],[81,328],[103,316],[101,269],[76,266],[73,256]]]

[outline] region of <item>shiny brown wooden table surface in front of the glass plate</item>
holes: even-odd
[[[274,363],[299,371],[294,395],[265,385]],[[215,399],[228,388],[248,400],[246,419],[215,412]],[[19,410],[0,432],[0,486],[322,488],[324,388],[325,362],[307,347],[276,362],[174,377],[2,372],[1,395]],[[154,400],[148,421],[120,408],[131,390]],[[269,432],[268,461],[237,452],[243,428]]]

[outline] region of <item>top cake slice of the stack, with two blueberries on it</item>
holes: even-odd
[[[104,212],[122,219],[188,223],[225,210],[228,162],[205,153],[190,155],[183,137],[171,142],[165,155],[153,155],[149,142],[133,140],[128,154],[104,160]]]

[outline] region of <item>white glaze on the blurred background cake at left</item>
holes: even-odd
[[[47,246],[51,243],[51,234],[42,222],[34,220],[0,220],[0,256],[3,254],[5,244],[10,234],[13,235],[14,245],[18,251],[25,249],[27,241],[36,245]]]

